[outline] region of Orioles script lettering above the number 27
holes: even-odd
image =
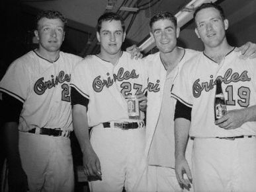
[[[107,73],[108,78],[101,80],[101,75],[99,75],[98,77],[96,77],[93,80],[93,90],[95,90],[96,92],[101,92],[104,88],[104,86],[106,86],[107,88],[112,86],[112,84],[118,80],[118,81],[122,81],[122,80],[128,80],[128,79],[137,79],[139,77],[139,75],[136,75],[136,71],[135,69],[133,69],[131,72],[130,71],[125,71],[124,72],[124,68],[121,67],[118,70],[117,75],[114,74],[113,77],[109,77],[109,73]]]

